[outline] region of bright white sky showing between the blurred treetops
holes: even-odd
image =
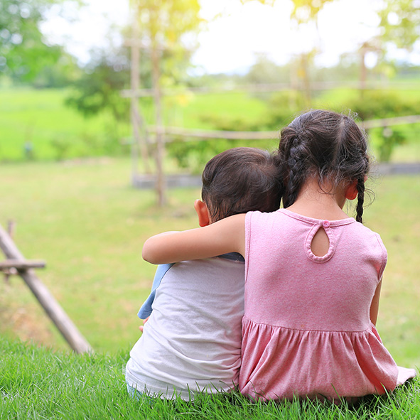
[[[104,45],[111,23],[124,25],[129,18],[128,0],[86,0],[82,13],[68,10],[75,21],[51,18],[43,30],[53,41],[67,38],[70,53],[81,62],[89,60],[90,48]],[[377,33],[375,8],[381,0],[335,0],[319,14],[314,26],[296,31],[289,16],[291,0],[277,0],[274,6],[258,1],[242,5],[239,0],[201,0],[204,18],[212,18],[208,29],[199,35],[200,48],[193,63],[205,72],[243,72],[254,63],[256,53],[266,53],[276,63],[286,63],[292,55],[318,46],[317,63],[334,65],[341,53],[357,50],[362,41]],[[76,18],[77,17],[77,18]],[[420,55],[414,55],[414,61]],[[374,64],[375,58],[371,57]],[[367,63],[368,65],[370,63]]]

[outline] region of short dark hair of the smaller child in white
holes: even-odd
[[[279,172],[272,154],[253,147],[229,149],[210,159],[201,197],[212,222],[253,210],[278,210],[283,192]]]

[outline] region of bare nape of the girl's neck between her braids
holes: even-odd
[[[316,180],[308,180],[303,185],[296,201],[287,208],[299,215],[321,220],[341,220],[348,218],[343,212],[344,191],[323,185],[321,189]]]

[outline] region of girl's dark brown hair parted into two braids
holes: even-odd
[[[279,160],[286,190],[284,207],[293,204],[309,176],[320,188],[357,181],[357,222],[362,222],[365,176],[369,172],[365,133],[344,114],[313,109],[281,130]],[[326,191],[328,193],[328,191]]]

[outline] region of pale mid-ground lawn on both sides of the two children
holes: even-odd
[[[200,190],[170,190],[167,207],[157,208],[152,191],[130,187],[129,171],[123,158],[0,166],[1,224],[15,220],[23,254],[46,260],[38,275],[99,352],[129,348],[139,338],[136,312],[154,274],[141,259],[144,240],[197,226],[193,201]],[[365,222],[389,252],[379,333],[400,365],[420,366],[420,176],[373,184],[376,200]],[[0,281],[0,333],[67,348],[17,276]]]

